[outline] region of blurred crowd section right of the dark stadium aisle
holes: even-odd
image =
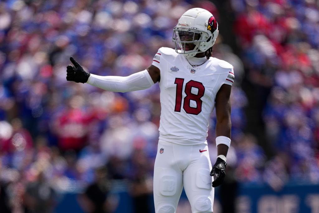
[[[233,0],[231,5],[246,79],[254,91],[249,102],[273,150],[264,179],[275,189],[287,180],[318,183],[319,3]]]

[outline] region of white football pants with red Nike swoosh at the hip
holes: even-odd
[[[154,165],[155,213],[175,213],[183,185],[192,213],[213,212],[210,172],[206,144],[179,145],[159,140]]]

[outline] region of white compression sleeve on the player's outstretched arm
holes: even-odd
[[[146,69],[126,77],[90,74],[86,83],[112,92],[145,90],[154,84]]]

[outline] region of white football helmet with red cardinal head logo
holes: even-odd
[[[209,11],[202,8],[189,9],[174,27],[175,51],[187,58],[194,57],[211,48],[217,36],[218,23]]]

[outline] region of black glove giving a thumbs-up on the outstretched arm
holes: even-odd
[[[89,79],[90,73],[85,72],[81,65],[79,65],[79,63],[72,57],[70,57],[70,61],[74,66],[68,65],[66,67],[66,80],[74,81],[76,83],[86,83],[87,79]]]

